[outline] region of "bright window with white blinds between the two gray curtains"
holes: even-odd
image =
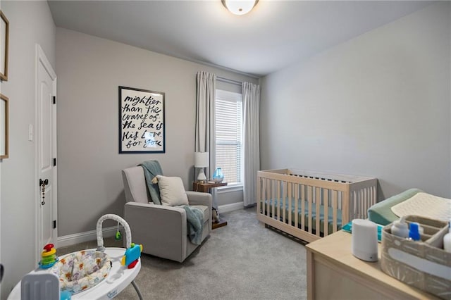
[[[242,184],[242,95],[216,89],[216,167],[228,185]]]

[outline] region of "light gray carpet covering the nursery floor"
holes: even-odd
[[[255,208],[221,217],[228,225],[183,263],[142,255],[135,282],[144,299],[307,299],[306,251],[256,218]],[[58,249],[58,255],[95,246],[95,241]],[[121,246],[105,239],[106,246]],[[138,299],[129,285],[115,298]]]

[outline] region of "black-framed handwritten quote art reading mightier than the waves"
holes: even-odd
[[[119,87],[119,153],[164,152],[164,93]]]

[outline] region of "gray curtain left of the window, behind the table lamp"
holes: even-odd
[[[216,168],[216,137],[214,132],[214,108],[216,98],[216,75],[208,72],[197,73],[196,98],[196,133],[194,137],[195,152],[209,152],[209,168],[206,168],[206,178],[211,180]],[[213,206],[216,205],[216,189],[211,189]]]

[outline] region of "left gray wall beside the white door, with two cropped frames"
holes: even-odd
[[[1,161],[1,263],[6,273],[1,299],[35,262],[35,56],[38,43],[55,68],[55,25],[47,1],[2,1],[10,23],[8,81],[1,93],[9,98],[9,158]]]

